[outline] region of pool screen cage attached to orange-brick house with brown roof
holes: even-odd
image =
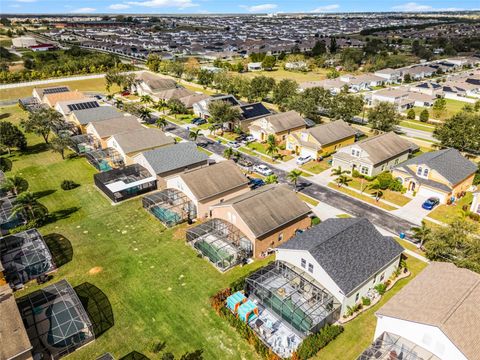
[[[233,224],[210,219],[187,230],[187,242],[220,271],[226,271],[252,256],[252,243]]]

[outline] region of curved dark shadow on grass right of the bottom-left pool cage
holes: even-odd
[[[84,282],[74,289],[92,322],[95,338],[100,337],[115,325],[112,305],[107,295],[89,282]]]

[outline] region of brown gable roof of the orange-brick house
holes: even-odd
[[[216,206],[232,206],[259,238],[310,212],[287,185],[266,185]]]

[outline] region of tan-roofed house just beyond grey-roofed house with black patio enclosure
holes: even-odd
[[[107,147],[114,148],[122,156],[125,164],[133,164],[133,157],[146,150],[159,148],[175,143],[171,136],[159,129],[145,128],[122,132],[110,136],[107,141]]]

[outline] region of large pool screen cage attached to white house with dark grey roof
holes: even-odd
[[[245,290],[304,335],[318,332],[340,316],[340,303],[332,294],[309,274],[283,261],[250,275]]]

